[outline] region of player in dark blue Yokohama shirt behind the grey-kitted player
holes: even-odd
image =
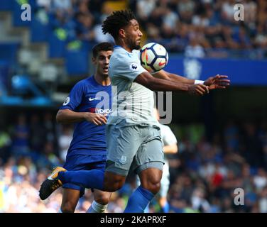
[[[104,172],[107,160],[105,125],[111,113],[111,81],[108,67],[112,52],[113,45],[110,43],[99,43],[94,46],[94,75],[75,84],[58,111],[58,123],[75,123],[65,170]],[[71,183],[63,184],[62,187],[60,212],[74,212],[80,196],[85,193],[85,188]],[[98,189],[93,191],[94,201],[87,212],[102,213],[107,209],[111,193]]]

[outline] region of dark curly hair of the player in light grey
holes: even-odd
[[[103,22],[102,31],[109,33],[116,40],[119,36],[119,29],[129,25],[130,21],[136,16],[130,10],[113,11]]]

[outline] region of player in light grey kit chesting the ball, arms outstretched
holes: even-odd
[[[218,75],[198,83],[164,70],[152,76],[141,67],[139,49],[143,34],[131,11],[111,13],[102,31],[110,33],[116,42],[109,62],[109,77],[116,92],[112,91],[112,114],[106,126],[106,170],[66,171],[57,167],[41,185],[40,196],[47,198],[67,182],[115,192],[124,185],[131,167],[141,185],[129,197],[124,212],[143,212],[160,189],[164,164],[160,128],[153,114],[153,91],[203,95],[209,89],[227,87],[229,80]]]

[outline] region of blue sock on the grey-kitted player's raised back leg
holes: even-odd
[[[104,172],[100,170],[59,172],[58,179],[62,184],[72,183],[88,189],[104,189]]]

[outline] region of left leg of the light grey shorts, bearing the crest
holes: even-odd
[[[108,125],[106,171],[127,176],[142,140],[137,126]]]

